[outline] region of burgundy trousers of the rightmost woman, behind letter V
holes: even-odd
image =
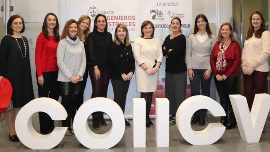
[[[249,110],[253,105],[253,100],[256,93],[265,93],[267,77],[269,72],[253,71],[251,75],[244,74],[244,90]]]

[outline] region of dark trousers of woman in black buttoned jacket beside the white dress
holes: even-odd
[[[114,90],[114,101],[121,107],[125,114],[125,101],[129,90],[130,80],[111,79],[111,82]]]

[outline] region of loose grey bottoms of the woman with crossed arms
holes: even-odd
[[[186,99],[187,71],[165,74],[165,94],[170,101],[170,114],[176,115],[180,104]]]

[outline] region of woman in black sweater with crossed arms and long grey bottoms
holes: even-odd
[[[170,121],[176,125],[176,111],[186,98],[186,37],[181,33],[180,18],[173,18],[170,26],[172,34],[165,38],[162,52],[163,56],[166,56],[165,93],[170,101]]]

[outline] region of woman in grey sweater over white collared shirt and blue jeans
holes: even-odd
[[[188,76],[191,84],[191,96],[200,95],[200,84],[202,95],[210,97],[210,83],[212,79],[210,54],[216,38],[212,34],[209,22],[205,15],[199,14],[195,18],[194,33],[187,41],[186,63]],[[205,124],[206,109],[195,112],[191,124],[199,122],[200,126]]]

